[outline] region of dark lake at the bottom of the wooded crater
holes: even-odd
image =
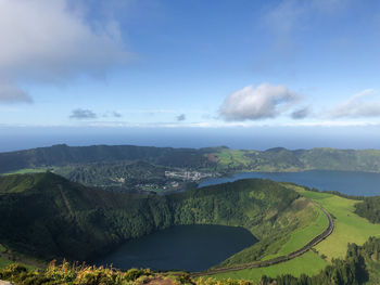
[[[224,225],[177,225],[131,239],[99,264],[115,268],[201,271],[256,243],[245,229]]]

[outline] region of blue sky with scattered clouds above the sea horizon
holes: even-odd
[[[376,0],[0,0],[0,37],[3,135],[380,130]]]

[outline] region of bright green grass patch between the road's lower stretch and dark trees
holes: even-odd
[[[321,259],[318,255],[313,251],[308,251],[299,258],[268,268],[244,269],[235,272],[215,274],[211,277],[216,280],[250,280],[258,283],[262,275],[267,275],[270,277],[276,277],[277,275],[281,274],[292,274],[294,276],[300,276],[302,273],[315,275],[319,273],[319,271],[322,270],[327,264],[327,261]]]

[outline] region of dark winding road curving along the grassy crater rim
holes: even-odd
[[[249,264],[231,267],[231,268],[211,269],[211,270],[206,270],[206,271],[194,272],[194,273],[191,273],[190,275],[192,277],[198,277],[198,276],[213,275],[213,274],[216,274],[216,273],[225,273],[225,272],[238,271],[238,270],[250,269],[250,268],[265,268],[265,267],[270,267],[270,265],[274,265],[274,264],[286,262],[288,260],[291,260],[293,258],[296,258],[296,257],[305,254],[313,246],[317,245],[318,243],[324,241],[327,236],[329,236],[332,233],[333,228],[334,228],[334,224],[333,224],[333,221],[332,221],[332,218],[331,218],[330,213],[328,213],[328,211],[325,210],[319,205],[316,205],[316,206],[318,206],[322,210],[322,212],[325,213],[325,216],[329,220],[329,225],[321,234],[319,234],[316,237],[314,237],[311,242],[308,242],[305,246],[301,247],[300,249],[297,249],[297,250],[295,250],[293,252],[290,252],[289,255],[276,257],[276,258],[273,258],[273,259],[269,259],[269,260],[265,260],[265,261],[255,261],[255,262],[252,262],[252,263],[249,263]]]

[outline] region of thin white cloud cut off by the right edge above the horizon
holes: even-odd
[[[380,99],[373,89],[366,89],[338,104],[329,113],[332,118],[380,117]]]

